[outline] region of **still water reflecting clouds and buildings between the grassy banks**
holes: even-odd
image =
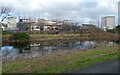
[[[113,41],[78,41],[59,43],[26,43],[2,46],[2,61],[22,60],[38,56],[50,55],[59,52],[88,50],[99,46],[116,45]]]

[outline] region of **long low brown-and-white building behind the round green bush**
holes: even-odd
[[[28,32],[32,34],[40,33],[57,33],[58,26],[55,22],[48,22],[46,19],[38,19],[37,21],[31,21],[31,19],[20,19],[18,22],[18,31]]]

